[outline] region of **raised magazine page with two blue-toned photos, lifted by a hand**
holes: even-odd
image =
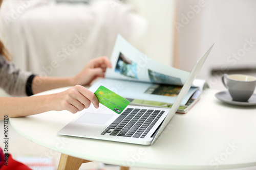
[[[117,36],[110,60],[112,68],[106,70],[106,78],[181,86],[189,75],[187,71],[147,57],[120,35]]]

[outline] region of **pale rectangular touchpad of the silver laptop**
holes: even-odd
[[[113,114],[85,113],[78,118],[76,123],[103,125],[113,116]]]

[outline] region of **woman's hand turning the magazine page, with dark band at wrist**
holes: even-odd
[[[91,60],[78,75],[71,78],[72,84],[79,84],[82,86],[90,85],[96,78],[104,77],[107,67],[112,67],[107,57],[95,58]]]

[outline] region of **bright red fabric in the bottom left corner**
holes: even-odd
[[[1,149],[2,150],[2,149]],[[3,158],[4,156],[4,158]],[[7,163],[7,165],[3,164],[3,160],[5,160],[5,155],[3,152],[0,152],[0,157],[1,157],[1,164],[0,164],[0,170],[32,170],[31,168],[29,168],[27,165],[21,163],[21,162],[18,162],[16,160],[14,160],[12,158],[12,155],[9,154],[9,157],[8,157],[8,162],[5,162],[4,163]],[[3,164],[3,165],[2,165]],[[2,166],[1,166],[2,165]]]

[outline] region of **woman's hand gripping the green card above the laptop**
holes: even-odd
[[[89,108],[91,103],[95,108],[99,107],[99,101],[96,95],[87,88],[76,85],[66,91],[50,95],[50,104],[52,110],[68,110],[72,113]]]

